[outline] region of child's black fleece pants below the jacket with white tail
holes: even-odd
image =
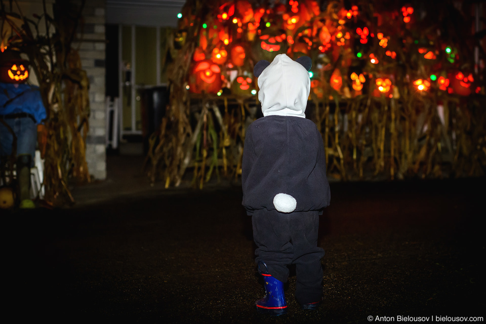
[[[279,213],[257,210],[252,216],[253,239],[258,262],[265,262],[268,272],[287,282],[290,264],[296,265],[296,298],[300,304],[314,303],[322,296],[324,250],[317,247],[319,215],[317,211]]]

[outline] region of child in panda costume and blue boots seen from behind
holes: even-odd
[[[319,215],[330,203],[322,137],[305,118],[310,92],[309,57],[285,54],[259,61],[262,118],[247,130],[242,160],[242,205],[252,216],[256,263],[265,281],[257,311],[287,313],[284,282],[296,265],[296,299],[303,309],[322,301],[324,250],[317,247]]]

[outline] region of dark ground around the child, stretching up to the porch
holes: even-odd
[[[486,318],[484,178],[332,183],[319,228],[324,303],[314,312],[300,310],[291,276],[289,313],[269,317],[254,310],[264,289],[240,187],[150,188],[137,168],[127,167],[131,159],[110,158],[123,171],[109,164],[105,182],[73,189],[72,208],[3,217],[2,317],[49,323]]]

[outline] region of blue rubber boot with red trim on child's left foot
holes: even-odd
[[[265,267],[265,271],[262,271],[261,266]],[[268,273],[266,264],[263,262],[258,263],[258,271],[265,280],[265,297],[256,301],[257,312],[273,316],[287,314],[284,282],[272,277]]]

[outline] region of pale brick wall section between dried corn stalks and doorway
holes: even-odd
[[[59,1],[59,0],[58,0]],[[90,79],[90,130],[86,140],[88,169],[94,179],[106,178],[105,148],[105,0],[87,0],[79,25],[79,55]]]

